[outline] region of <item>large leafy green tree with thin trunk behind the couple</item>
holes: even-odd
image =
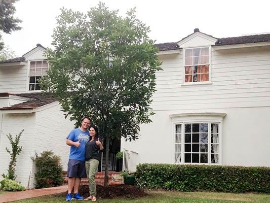
[[[100,3],[85,15],[62,9],[54,29],[55,50],[43,88],[58,97],[63,111],[80,125],[92,118],[105,142],[105,185],[109,144],[114,139],[138,139],[139,124],[151,122],[149,104],[155,73],[161,70],[158,49],[147,36],[149,27],[135,18],[110,11]]]

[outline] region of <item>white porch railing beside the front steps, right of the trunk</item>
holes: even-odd
[[[138,153],[124,149],[123,171],[135,172],[138,164]]]

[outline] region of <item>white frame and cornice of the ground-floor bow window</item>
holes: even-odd
[[[184,113],[170,115],[172,119],[173,132],[173,155],[174,164],[205,164],[205,165],[222,165],[222,123],[225,113]],[[208,123],[208,163],[185,163],[184,162],[184,124],[188,123]],[[211,163],[211,123],[218,123],[218,163]],[[175,163],[175,126],[181,124],[181,162]],[[209,128],[210,125],[210,128]],[[192,153],[192,152],[191,152]]]

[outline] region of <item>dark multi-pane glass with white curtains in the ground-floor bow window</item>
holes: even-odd
[[[210,122],[176,124],[175,163],[219,163],[218,127]]]

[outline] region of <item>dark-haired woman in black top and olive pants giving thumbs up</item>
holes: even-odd
[[[87,177],[89,178],[90,196],[84,200],[96,201],[97,191],[96,191],[95,175],[100,161],[99,153],[101,150],[103,150],[103,146],[99,140],[99,133],[96,126],[94,125],[89,126],[89,134],[90,134],[90,141],[86,144],[85,167]]]

